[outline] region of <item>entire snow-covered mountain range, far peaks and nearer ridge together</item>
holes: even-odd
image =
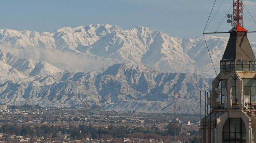
[[[206,40],[218,73],[228,37]],[[256,43],[251,46],[255,52]],[[206,77],[215,76],[203,37],[170,37],[145,27],[2,29],[0,49],[0,101],[7,104],[25,104],[24,95],[40,106],[172,112],[175,91],[187,105],[183,111],[196,112],[199,91],[210,89]]]

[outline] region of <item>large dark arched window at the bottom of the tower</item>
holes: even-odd
[[[222,129],[222,143],[246,143],[246,129],[242,118],[228,118]]]

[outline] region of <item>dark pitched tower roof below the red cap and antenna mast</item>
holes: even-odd
[[[222,60],[225,59],[255,60],[247,32],[230,32],[228,44],[222,57]]]

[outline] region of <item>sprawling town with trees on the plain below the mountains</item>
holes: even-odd
[[[0,142],[196,143],[200,115],[0,105]]]

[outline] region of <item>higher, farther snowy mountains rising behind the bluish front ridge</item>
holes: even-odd
[[[228,37],[206,36],[206,40],[218,72],[219,60],[222,58]],[[197,39],[170,37],[145,27],[124,30],[108,24],[91,24],[76,28],[64,27],[51,33],[2,29],[0,43],[2,48],[19,57],[44,60],[63,70],[72,70],[72,68],[60,66],[61,61],[84,71],[129,62],[169,73],[215,76],[203,37]],[[256,43],[252,43],[254,51],[256,51],[255,46]],[[42,52],[44,50],[47,52]],[[56,51],[63,53],[45,58],[49,55],[49,51],[54,51],[55,54]],[[52,59],[61,58],[62,56],[59,55],[67,53],[74,54],[71,60]],[[70,55],[66,56],[68,57]],[[56,60],[57,63],[54,62]]]

